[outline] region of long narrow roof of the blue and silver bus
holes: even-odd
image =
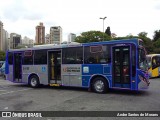
[[[45,44],[45,45],[35,45],[32,48],[21,48],[21,49],[9,49],[9,51],[25,51],[25,50],[39,50],[39,49],[51,49],[51,48],[67,48],[67,47],[78,47],[78,46],[89,46],[89,45],[99,45],[99,44],[114,44],[114,43],[138,43],[142,41],[138,38],[132,39],[122,39],[122,40],[110,40],[110,41],[101,41],[101,42],[90,42],[90,43],[77,43],[77,42],[70,42],[67,44]]]

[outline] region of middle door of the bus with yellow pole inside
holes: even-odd
[[[51,86],[61,83],[61,51],[48,52],[48,76]]]

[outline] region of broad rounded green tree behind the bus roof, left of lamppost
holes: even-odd
[[[75,41],[79,43],[88,43],[88,42],[99,42],[99,41],[108,41],[111,40],[111,37],[107,34],[100,31],[87,31],[81,33],[80,36],[77,36]]]

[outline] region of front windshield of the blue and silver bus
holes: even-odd
[[[139,49],[139,68],[144,71],[147,71],[148,69],[146,53],[145,50],[142,48]]]

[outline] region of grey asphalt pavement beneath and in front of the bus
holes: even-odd
[[[0,78],[0,111],[160,111],[160,78],[151,79],[147,90],[138,92],[111,90],[107,94],[97,94],[81,88],[42,86],[33,89],[27,85],[11,83]],[[5,119],[10,120],[10,118]],[[33,118],[12,119],[32,120]],[[34,119],[39,120],[40,118]],[[107,118],[56,117],[41,119],[101,120]],[[160,117],[111,117],[110,119],[159,120]]]

